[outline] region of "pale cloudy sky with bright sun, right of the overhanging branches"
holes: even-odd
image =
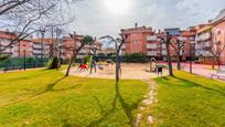
[[[225,0],[83,0],[69,7],[68,31],[94,36],[118,35],[120,29],[186,29],[214,19]]]

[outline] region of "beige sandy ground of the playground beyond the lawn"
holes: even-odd
[[[150,80],[158,77],[157,73],[148,72],[149,64],[125,64],[121,67],[121,78],[122,80]],[[65,71],[64,71],[65,73]],[[104,70],[97,68],[95,73],[89,74],[89,70],[79,71],[77,66],[71,70],[71,75],[82,76],[82,77],[95,77],[95,78],[115,78],[115,64],[105,66]],[[163,76],[168,75],[168,71],[163,70]]]

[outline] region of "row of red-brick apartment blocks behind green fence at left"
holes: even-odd
[[[0,49],[1,54],[8,54],[12,57],[52,57],[56,53],[56,45],[54,39],[33,39],[33,36],[29,36],[28,39],[21,40],[11,46],[8,46],[11,43],[12,39],[15,39],[17,34],[12,32],[0,31]],[[62,57],[71,57],[73,55],[74,47],[78,47],[81,45],[81,40],[84,35],[76,35],[76,39],[71,39],[65,36],[61,39],[62,41]],[[101,43],[96,42],[95,46],[98,49],[98,52],[101,50]],[[97,53],[98,53],[97,52]],[[93,53],[89,45],[86,45],[78,54],[78,57],[84,57]]]

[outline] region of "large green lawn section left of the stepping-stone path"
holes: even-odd
[[[0,74],[0,126],[130,126],[147,87],[47,70]]]

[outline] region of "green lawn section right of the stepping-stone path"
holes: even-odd
[[[159,103],[151,107],[157,126],[224,127],[225,83],[175,72],[156,78]]]

